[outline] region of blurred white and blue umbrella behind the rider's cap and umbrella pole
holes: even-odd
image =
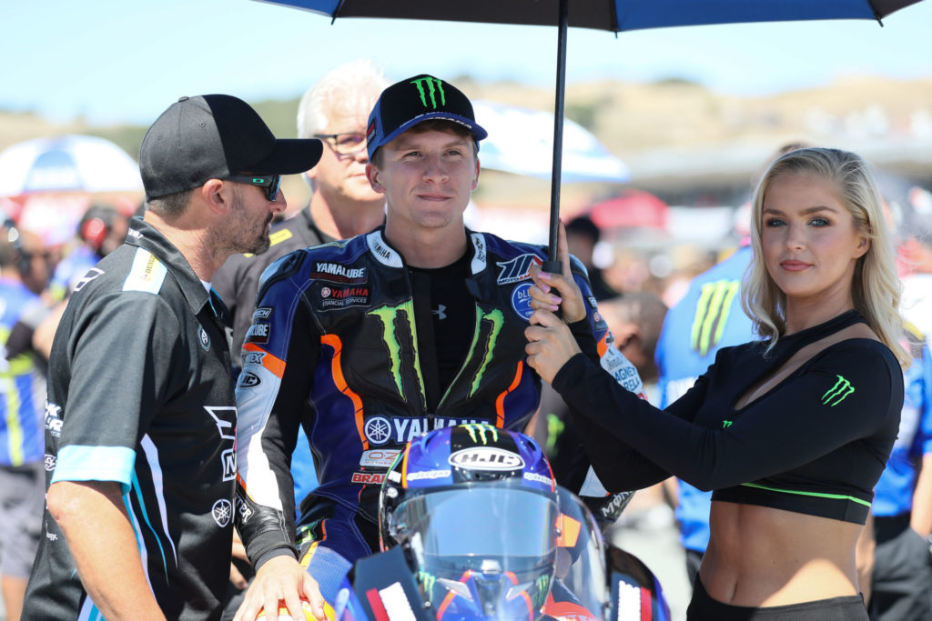
[[[473,101],[475,120],[488,131],[482,168],[550,179],[554,115],[493,101]],[[628,167],[611,155],[582,125],[563,122],[563,182],[616,182],[630,178]]]

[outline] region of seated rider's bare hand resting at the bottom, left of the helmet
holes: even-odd
[[[305,621],[301,601],[308,601],[314,616],[321,621],[326,619],[323,613],[323,596],[317,581],[308,574],[294,557],[282,555],[267,560],[255,574],[252,586],[246,591],[240,609],[233,621],[254,621],[256,614],[265,609],[269,618],[279,611],[283,602],[295,621]]]

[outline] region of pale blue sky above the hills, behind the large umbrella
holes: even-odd
[[[466,0],[463,0],[466,1]],[[815,0],[814,0],[815,1]],[[147,125],[181,95],[300,95],[327,70],[373,58],[389,79],[472,74],[551,86],[556,31],[535,26],[330,20],[251,0],[40,0],[7,7],[0,109],[54,121]],[[575,81],[684,77],[761,95],[853,74],[932,78],[932,0],[874,21],[570,29]]]

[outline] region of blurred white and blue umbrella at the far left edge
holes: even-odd
[[[0,196],[142,188],[135,160],[113,142],[96,136],[36,138],[0,153]]]

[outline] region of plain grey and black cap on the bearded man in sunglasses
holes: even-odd
[[[145,132],[139,170],[146,198],[238,174],[290,175],[321,159],[316,139],[277,140],[253,108],[230,95],[182,97]]]

